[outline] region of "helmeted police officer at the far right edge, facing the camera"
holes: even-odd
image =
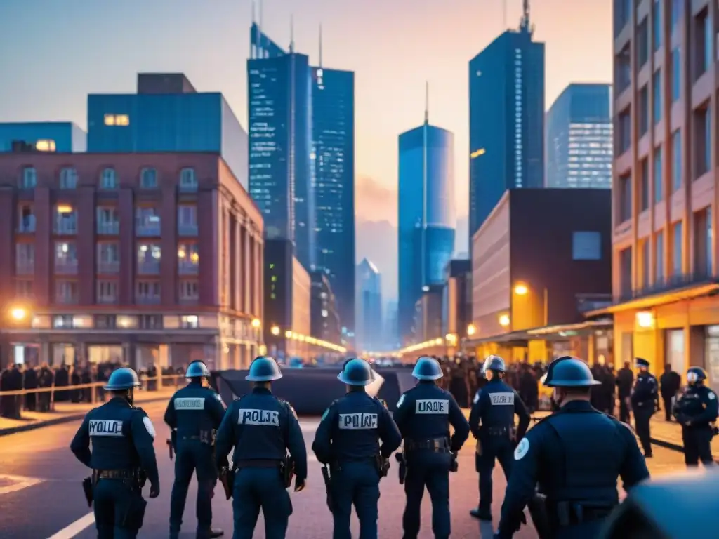
[[[687,466],[714,466],[711,442],[713,423],[719,417],[719,400],[715,392],[704,385],[707,373],[700,367],[687,371],[689,387],[674,405],[674,417],[682,425],[684,462]]]

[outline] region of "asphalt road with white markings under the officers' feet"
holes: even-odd
[[[162,423],[165,403],[145,405],[157,430],[155,448],[160,466],[160,497],[149,500],[145,526],[140,538],[157,538],[168,533],[170,491],[173,483],[173,464],[168,457],[165,439],[169,436]],[[331,516],[325,505],[325,492],[320,466],[314,460],[309,446],[318,423],[317,418],[301,419],[308,446],[310,474],[308,487],[292,494],[294,513],[290,517],[288,537],[293,539],[316,539],[331,537]],[[4,539],[90,539],[96,537],[91,510],[82,494],[81,480],[88,469],[75,460],[70,453],[70,440],[79,422],[56,425],[26,433],[0,438],[0,537]],[[471,437],[470,437],[471,438]],[[473,443],[468,442],[459,454],[459,472],[451,474],[452,537],[491,538],[488,523],[477,522],[468,514],[477,504],[477,474],[474,470]],[[649,461],[652,474],[666,474],[684,469],[682,455],[664,448],[654,449],[654,459]],[[383,479],[380,498],[380,537],[402,536],[402,512],[404,509],[403,487],[397,482],[396,463],[390,476]],[[147,489],[145,487],[145,494]],[[501,471],[495,471],[494,514],[495,525],[503,499],[505,481]],[[214,525],[223,528],[232,537],[232,507],[221,495],[221,487],[214,500]],[[182,538],[194,538],[196,518],[194,499],[196,490],[191,486],[186,507]],[[431,539],[431,507],[429,496],[422,506],[423,530],[419,537]],[[359,526],[354,520],[352,534],[357,537]],[[262,517],[255,531],[256,538],[264,538]],[[516,534],[517,539],[536,538],[531,526]]]

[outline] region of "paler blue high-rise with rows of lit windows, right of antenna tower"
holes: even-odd
[[[548,188],[612,187],[612,85],[572,83],[546,113]]]

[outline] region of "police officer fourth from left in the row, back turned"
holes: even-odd
[[[387,408],[365,392],[375,380],[367,361],[347,361],[337,378],[347,385],[347,394],[327,408],[312,443],[317,460],[330,466],[332,537],[352,538],[349,517],[354,503],[359,536],[376,539],[380,477],[387,473],[381,466],[402,438]]]

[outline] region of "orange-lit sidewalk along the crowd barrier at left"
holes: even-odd
[[[140,391],[135,396],[135,404],[142,406],[143,402],[157,402],[161,400],[170,400],[173,393],[178,388],[175,386],[163,387],[158,391]],[[7,436],[14,433],[22,433],[25,430],[34,430],[36,428],[48,427],[50,425],[58,425],[60,423],[69,423],[85,417],[85,414],[103,404],[95,402],[57,402],[55,410],[48,413],[28,412],[23,410],[22,419],[6,419],[0,418],[0,436]]]

